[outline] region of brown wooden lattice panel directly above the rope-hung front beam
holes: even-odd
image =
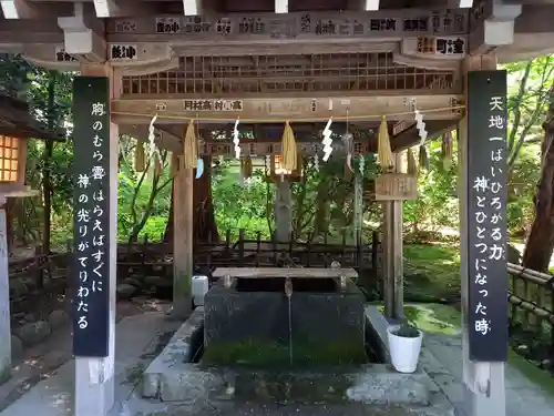
[[[123,94],[452,90],[455,79],[451,70],[396,63],[391,52],[183,57],[175,70],[124,77]]]

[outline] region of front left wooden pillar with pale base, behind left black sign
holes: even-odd
[[[82,65],[81,74],[106,77],[110,80],[110,98],[116,99],[119,97],[121,77],[114,74],[114,70],[109,64]],[[104,282],[107,281],[107,285],[103,287],[103,290],[109,291],[109,348],[106,357],[75,357],[75,416],[104,416],[114,405],[119,184],[119,129],[114,123],[110,123],[109,140],[109,190],[104,190],[104,192],[109,192],[111,201],[107,212],[111,232],[105,235],[109,251],[105,253],[104,261],[107,262],[109,275],[107,278],[104,278]]]

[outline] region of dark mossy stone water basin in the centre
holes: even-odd
[[[347,280],[239,278],[205,297],[201,363],[257,367],[381,362],[366,331],[363,295]]]

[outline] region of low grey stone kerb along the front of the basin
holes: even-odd
[[[145,374],[152,386],[152,373]],[[424,372],[400,374],[388,365],[373,364],[318,372],[264,372],[254,368],[202,368],[197,364],[173,363],[155,377],[150,397],[164,402],[206,399],[294,403],[430,403],[431,379]]]

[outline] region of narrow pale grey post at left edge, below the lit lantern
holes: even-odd
[[[0,196],[0,384],[11,376],[10,276],[6,197]]]

